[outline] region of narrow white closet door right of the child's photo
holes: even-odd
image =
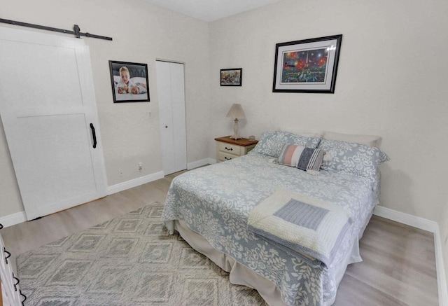
[[[187,169],[183,64],[156,62],[162,163],[165,175]]]

